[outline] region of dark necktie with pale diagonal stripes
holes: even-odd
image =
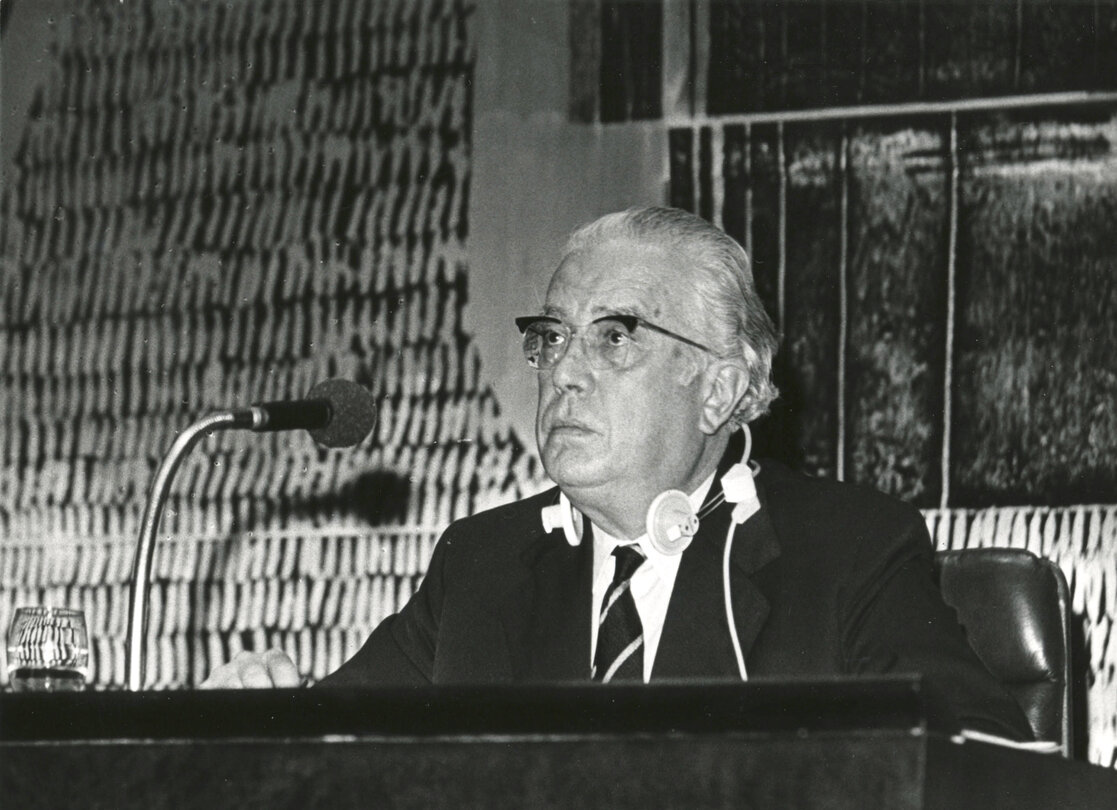
[[[593,656],[593,679],[643,680],[643,626],[630,588],[632,574],[643,564],[636,545],[613,549],[617,570],[601,602],[598,619],[598,649]]]

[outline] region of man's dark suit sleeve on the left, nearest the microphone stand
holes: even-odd
[[[422,583],[403,609],[384,619],[356,655],[323,678],[319,686],[422,686],[431,683],[449,533],[448,530],[436,544]]]

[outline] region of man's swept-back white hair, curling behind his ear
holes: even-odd
[[[689,266],[679,268],[680,279],[703,303],[695,315],[704,342],[718,356],[742,358],[748,370],[748,390],[734,421],[746,425],[763,416],[779,396],[772,358],[780,339],[756,293],[745,249],[700,217],[651,207],[607,213],[582,226],[571,234],[563,257],[614,239],[659,245],[689,257]]]

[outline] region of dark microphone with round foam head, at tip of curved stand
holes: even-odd
[[[376,425],[372,394],[351,380],[323,380],[306,399],[257,402],[235,411],[237,427],[257,432],[307,430],[325,447],[353,447]]]

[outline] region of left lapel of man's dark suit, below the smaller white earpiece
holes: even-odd
[[[589,680],[593,539],[534,539],[500,608],[514,680]]]

